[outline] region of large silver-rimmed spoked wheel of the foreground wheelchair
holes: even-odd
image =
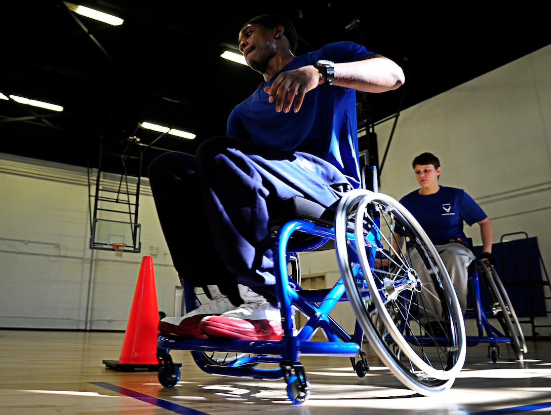
[[[395,227],[409,251],[394,243]],[[390,196],[359,189],[339,203],[335,235],[350,304],[375,353],[419,394],[449,389],[466,355],[463,315],[444,263],[417,220]],[[422,260],[417,269],[412,249]],[[422,271],[430,281],[422,281]],[[435,299],[441,310],[431,305]],[[430,315],[439,321],[429,322]]]

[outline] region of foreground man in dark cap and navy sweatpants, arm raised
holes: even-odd
[[[284,17],[242,25],[239,49],[264,82],[231,112],[225,137],[203,142],[196,155],[171,152],[150,164],[175,268],[211,298],[165,317],[161,332],[279,339],[271,215],[291,197],[329,207],[359,187],[356,90],[396,89],[403,71],[352,42],[295,56],[297,44]]]

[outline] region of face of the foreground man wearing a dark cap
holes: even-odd
[[[257,72],[264,73],[268,61],[276,54],[273,33],[273,29],[255,23],[245,25],[239,32],[239,51],[247,65]]]

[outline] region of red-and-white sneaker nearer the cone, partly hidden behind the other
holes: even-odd
[[[210,315],[220,315],[235,308],[228,297],[220,292],[216,285],[207,285],[212,297],[198,309],[188,312],[181,317],[165,317],[159,322],[159,331],[165,335],[174,335],[185,338],[206,338],[199,330],[199,322]]]

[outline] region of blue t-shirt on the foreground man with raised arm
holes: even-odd
[[[336,42],[295,57],[280,72],[315,65],[321,59],[353,62],[372,54],[353,42]],[[323,85],[306,93],[299,112],[276,112],[276,102],[268,103],[264,88],[272,85],[278,74],[235,106],[226,135],[279,150],[313,154],[336,166],[353,187],[359,187],[356,91]]]

